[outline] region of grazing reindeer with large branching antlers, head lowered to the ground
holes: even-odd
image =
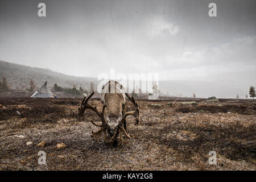
[[[84,97],[81,106],[78,109],[79,118],[84,115],[86,109],[93,110],[98,117],[101,118],[101,124],[92,122],[93,125],[100,127],[97,131],[92,131],[93,140],[100,140],[101,134],[104,133],[104,141],[106,143],[114,143],[119,134],[119,140],[123,144],[123,135],[127,139],[130,139],[130,135],[127,134],[126,129],[126,117],[128,115],[133,115],[135,117],[135,125],[139,123],[139,107],[137,102],[135,102],[133,97],[127,94],[121,84],[117,81],[110,80],[106,82],[101,89],[101,102],[103,104],[102,111],[98,111],[96,106],[92,106],[88,103],[90,97],[92,97],[94,92],[92,92],[87,98]],[[135,111],[125,111],[125,96],[133,103],[135,106]],[[107,113],[105,109],[107,108]],[[110,140],[107,142],[107,133],[110,135]]]

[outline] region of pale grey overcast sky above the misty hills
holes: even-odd
[[[210,2],[217,17],[208,16]],[[1,0],[0,60],[74,76],[114,68],[160,80],[242,74],[255,84],[255,21],[255,0]]]

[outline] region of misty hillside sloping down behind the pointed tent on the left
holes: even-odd
[[[84,89],[89,89],[90,82],[97,80],[93,77],[69,76],[49,69],[29,67],[2,60],[0,60],[0,77],[6,77],[10,88],[13,90],[29,89],[30,79],[34,81],[37,87],[42,86],[44,82],[48,81],[50,88],[56,83],[65,88],[72,88],[75,84]]]

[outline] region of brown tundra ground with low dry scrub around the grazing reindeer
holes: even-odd
[[[255,170],[255,102],[197,101],[139,100],[141,122],[127,119],[133,138],[112,146],[90,137],[97,130],[90,120],[99,121],[92,111],[78,121],[81,98],[0,98],[0,170]],[[57,149],[60,142],[67,147]],[[46,165],[38,164],[39,151]],[[209,151],[217,165],[208,163]]]

